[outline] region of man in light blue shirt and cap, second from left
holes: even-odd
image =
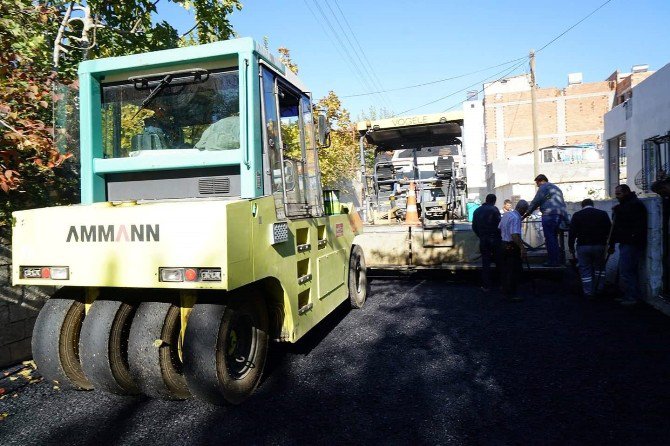
[[[516,208],[507,212],[500,219],[500,235],[502,238],[501,277],[503,293],[510,301],[523,300],[516,294],[517,284],[521,278],[522,259],[526,257],[526,248],[521,240],[521,218],[528,212],[528,202],[519,200]]]

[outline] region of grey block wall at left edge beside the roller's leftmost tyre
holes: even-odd
[[[0,239],[0,368],[32,357],[30,341],[53,287],[13,287],[11,245]]]

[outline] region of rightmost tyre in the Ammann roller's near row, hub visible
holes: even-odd
[[[268,351],[268,315],[254,296],[193,307],[184,337],[184,374],[193,395],[240,404],[258,387]]]

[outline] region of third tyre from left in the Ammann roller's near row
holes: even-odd
[[[130,375],[140,391],[162,399],[190,396],[179,358],[179,307],[166,302],[142,302],[128,338]]]

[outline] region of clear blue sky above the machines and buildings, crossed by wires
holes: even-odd
[[[239,37],[267,37],[275,54],[289,48],[314,100],[332,90],[357,120],[371,108],[393,115],[457,109],[466,91],[481,98],[484,82],[527,72],[531,49],[540,87],[563,88],[568,73],[597,82],[633,65],[670,63],[669,0],[609,0],[540,50],[606,2],[242,0],[230,22]],[[166,1],[158,14],[182,32],[194,24]],[[418,84],[428,85],[405,88]],[[381,90],[396,91],[361,95]]]

